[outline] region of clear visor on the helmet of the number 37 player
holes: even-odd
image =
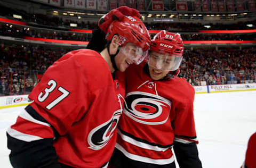
[[[140,64],[145,57],[148,56],[148,51],[143,51],[142,48],[136,46],[133,43],[127,43],[125,46],[120,48],[120,51],[124,54],[131,62]]]

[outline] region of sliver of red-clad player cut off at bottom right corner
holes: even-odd
[[[256,132],[253,133],[253,135],[250,137],[246,155],[245,155],[245,161],[241,168],[256,168]]]

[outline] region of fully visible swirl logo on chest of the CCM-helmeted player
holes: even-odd
[[[125,102],[124,114],[139,123],[157,125],[169,119],[171,102],[163,97],[134,91],[126,95]]]

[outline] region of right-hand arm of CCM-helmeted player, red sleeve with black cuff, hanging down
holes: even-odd
[[[189,93],[189,92],[188,92]],[[202,163],[198,157],[198,144],[193,114],[194,92],[185,98],[177,108],[177,116],[172,125],[174,128],[173,149],[180,168],[200,168]]]

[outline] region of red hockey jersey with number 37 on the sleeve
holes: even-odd
[[[63,55],[29,94],[29,99],[34,100],[31,108],[20,113],[7,130],[8,135],[22,142],[54,139],[58,161],[65,165],[107,166],[122,114],[122,74],[116,73],[113,81],[106,61],[88,49]],[[37,120],[29,111],[35,111],[46,122]],[[59,137],[54,138],[54,130]]]

